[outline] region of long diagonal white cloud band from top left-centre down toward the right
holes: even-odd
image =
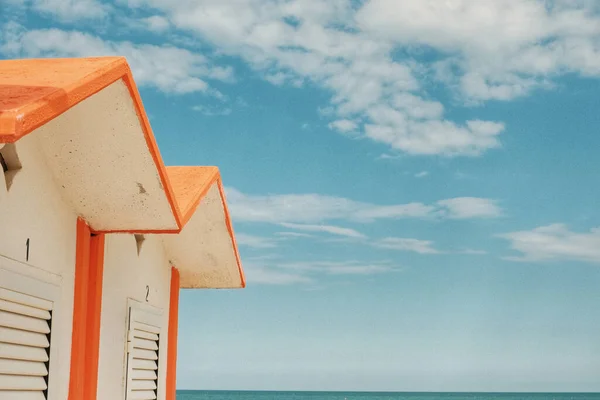
[[[162,10],[171,24],[242,57],[273,84],[299,87],[310,81],[327,90],[329,127],[341,133],[410,154],[478,156],[500,146],[501,123],[489,122],[493,129],[482,131],[475,121],[444,119],[442,104],[421,88],[427,68],[394,58],[393,38],[355,24],[355,16],[364,13],[356,14],[360,6],[350,0],[135,3]]]

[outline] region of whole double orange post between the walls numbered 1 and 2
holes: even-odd
[[[69,400],[95,400],[98,385],[104,235],[77,220]]]

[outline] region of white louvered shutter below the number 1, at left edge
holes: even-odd
[[[0,399],[48,398],[52,306],[0,287]]]

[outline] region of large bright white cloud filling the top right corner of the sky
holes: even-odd
[[[446,55],[432,69],[474,100],[509,100],[565,72],[600,75],[597,2],[370,0],[356,19],[381,40]]]

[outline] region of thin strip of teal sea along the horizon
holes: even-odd
[[[344,393],[178,390],[177,400],[600,400],[600,393]]]

